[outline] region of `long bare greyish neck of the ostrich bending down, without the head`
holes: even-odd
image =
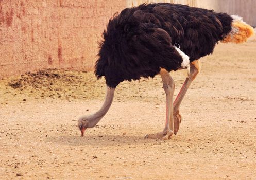
[[[99,111],[87,117],[89,121],[88,128],[93,128],[108,112],[114,99],[114,91],[114,88],[110,88],[109,86],[107,86],[107,94],[103,106],[100,108]]]

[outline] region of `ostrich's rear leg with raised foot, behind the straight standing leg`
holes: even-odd
[[[196,78],[197,74],[200,73],[201,64],[199,60],[195,60],[190,63],[190,75],[186,78],[184,84],[182,85],[179,94],[177,95],[174,101],[174,134],[176,135],[179,131],[180,123],[181,123],[181,115],[180,112],[180,104],[183,100],[187,89],[189,89],[192,81]]]

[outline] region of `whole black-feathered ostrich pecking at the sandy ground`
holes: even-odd
[[[200,72],[199,58],[209,55],[219,41],[243,43],[254,34],[241,17],[186,5],[157,3],[126,8],[109,20],[95,65],[97,78],[105,77],[106,99],[99,111],[78,120],[83,136],[108,112],[116,86],[160,74],[166,94],[166,121],[162,132],[145,138],[169,139],[179,130],[179,107]],[[175,101],[171,70],[188,69]]]

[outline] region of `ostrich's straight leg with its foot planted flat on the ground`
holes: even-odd
[[[167,70],[161,68],[160,75],[163,81],[163,88],[166,94],[166,121],[162,132],[146,135],[145,138],[160,138],[169,139],[174,133],[173,119],[173,95],[174,95],[174,80],[170,77]]]

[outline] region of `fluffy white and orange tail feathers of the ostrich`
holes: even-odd
[[[223,43],[244,43],[249,37],[254,35],[254,29],[243,21],[242,17],[231,15],[233,21],[231,23],[231,31],[224,37]]]

